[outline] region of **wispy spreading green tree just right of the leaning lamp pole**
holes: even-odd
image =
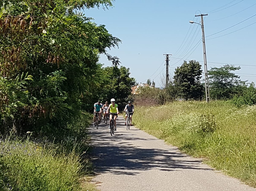
[[[225,65],[208,71],[211,99],[230,99],[245,88],[245,82],[232,73],[240,67]]]

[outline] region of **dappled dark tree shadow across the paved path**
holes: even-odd
[[[101,127],[107,128],[107,127]],[[109,130],[110,131],[110,130]],[[93,138],[92,162],[96,173],[137,175],[142,171],[156,169],[179,171],[182,169],[212,170],[201,167],[201,160],[191,158],[178,149],[150,149],[134,146],[133,141],[159,141],[157,138],[138,138],[119,128],[114,136],[109,131],[91,130]],[[159,142],[158,142],[159,144]]]

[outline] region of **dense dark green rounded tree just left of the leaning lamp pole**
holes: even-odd
[[[187,63],[174,71],[174,85],[176,86],[177,97],[186,99],[201,99],[203,96],[203,86],[200,83],[202,70],[199,62],[195,60]]]

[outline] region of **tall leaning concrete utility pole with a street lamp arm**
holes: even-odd
[[[205,49],[205,30],[204,30],[204,19],[203,19],[203,14],[201,15],[196,15],[201,16],[201,23],[197,23],[194,21],[189,21],[189,23],[193,24],[196,23],[198,25],[201,25],[202,29],[202,39],[203,39],[203,51],[204,51],[204,66],[205,66],[205,94],[206,94],[206,102],[208,103],[210,101],[210,91],[209,91],[209,82],[208,82],[208,70],[207,70],[207,61],[206,61],[206,49]]]

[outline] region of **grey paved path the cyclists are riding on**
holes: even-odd
[[[126,130],[124,122],[117,118],[112,137],[103,122],[98,130],[89,129],[96,173],[92,181],[98,189],[256,190],[134,126]]]

